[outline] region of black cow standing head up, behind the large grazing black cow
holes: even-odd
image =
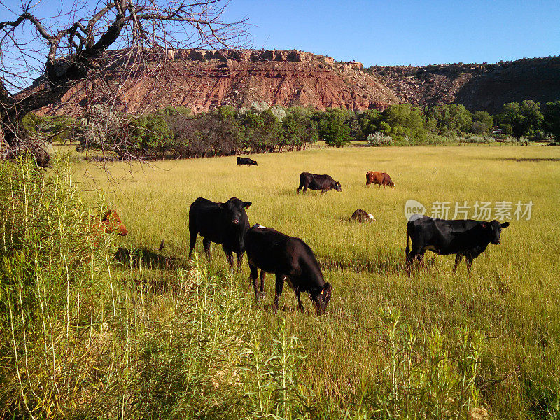
[[[190,204],[188,211],[188,230],[190,232],[190,251],[188,258],[193,255],[193,248],[200,232],[202,245],[210,258],[210,243],[222,244],[223,251],[233,268],[233,253],[237,254],[237,269],[241,272],[241,258],[245,252],[245,233],[249,228],[249,220],[245,209],[251,202],[243,202],[239,198],[231,197],[225,203],[211,202],[198,197]]]

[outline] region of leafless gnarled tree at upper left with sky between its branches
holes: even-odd
[[[13,16],[0,22],[0,130],[14,149],[29,143],[22,118],[58,102],[77,83],[87,87],[93,77],[116,73],[126,83],[139,68],[160,71],[148,61],[159,57],[165,65],[167,50],[237,47],[230,43],[246,34],[245,20],[222,20],[227,0],[73,0],[61,3],[55,17],[43,2],[22,1],[11,10],[0,0],[3,15]],[[116,104],[113,85],[102,87]]]

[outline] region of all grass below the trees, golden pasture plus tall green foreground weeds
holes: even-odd
[[[3,416],[467,419],[481,407],[491,418],[559,415],[557,151],[348,148],[256,159],[251,168],[235,158],[110,164],[111,177],[92,166],[76,177],[66,165],[45,174],[2,164],[10,176],[1,194],[19,197],[2,207],[4,225],[15,227],[6,232],[17,233],[3,239],[13,245],[3,251],[12,271],[3,268],[2,302],[18,308],[2,311]],[[78,174],[81,165],[73,164]],[[396,190],[365,188],[370,169],[389,172]],[[330,173],[342,193],[296,195],[304,170]],[[87,205],[76,179],[90,191]],[[118,239],[130,252],[117,260],[116,239],[88,223],[90,208],[107,206],[97,188],[130,231]],[[327,313],[297,313],[286,289],[274,314],[272,279],[265,306],[255,307],[246,265],[230,273],[215,245],[208,262],[200,239],[200,260],[188,261],[188,207],[198,196],[250,200],[251,223],[307,241],[334,287]],[[464,265],[452,274],[452,257],[426,255],[408,278],[408,198],[533,200],[535,208],[475,260],[471,276]],[[36,212],[45,216],[22,216],[26,202],[48,203]],[[377,221],[349,223],[357,208]],[[73,227],[91,233],[64,235]],[[161,239],[167,246],[157,251]],[[28,263],[34,249],[48,279]],[[25,276],[10,274],[18,270]],[[36,283],[52,291],[30,292]]]

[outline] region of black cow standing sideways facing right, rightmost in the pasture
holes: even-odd
[[[456,254],[453,272],[465,257],[467,272],[472,260],[484,252],[490,243],[500,244],[500,233],[510,222],[458,220],[446,221],[419,216],[407,223],[407,271],[410,274],[412,261],[422,261],[426,249],[439,255]],[[408,241],[412,239],[412,251]]]

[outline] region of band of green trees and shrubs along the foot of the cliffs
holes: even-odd
[[[193,115],[168,106],[144,116],[114,113],[94,106],[87,118],[39,117],[29,114],[29,136],[67,141],[79,139],[80,150],[103,148],[120,158],[198,158],[239,153],[300,150],[323,140],[330,146],[368,141],[372,146],[438,144],[505,139],[560,141],[560,101],[511,102],[500,113],[471,112],[461,104],[421,108],[411,104],[384,111],[351,111],[268,106],[219,106]]]

